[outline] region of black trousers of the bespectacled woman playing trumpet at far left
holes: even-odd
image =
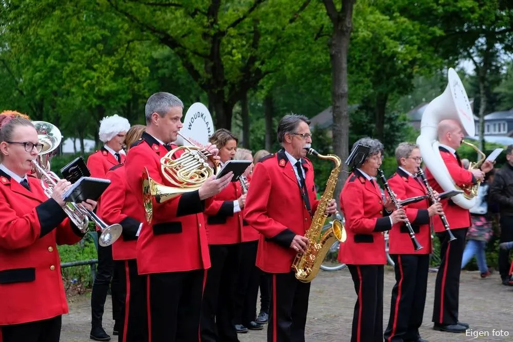
[[[33,322],[0,326],[1,342],[59,342],[62,316]]]

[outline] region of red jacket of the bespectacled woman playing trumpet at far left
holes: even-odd
[[[40,180],[31,191],[0,171],[0,326],[68,313],[57,245],[82,239]]]

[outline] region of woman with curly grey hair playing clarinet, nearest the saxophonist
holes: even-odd
[[[361,138],[353,145],[369,147],[361,166],[349,175],[340,195],[340,207],[346,220],[347,239],[340,245],[339,261],[351,272],[354,304],[351,342],[383,340],[383,265],[386,264],[384,232],[404,222],[403,209],[394,210],[372,177],[382,163],[383,144],[377,139]],[[393,212],[384,217],[385,210]]]

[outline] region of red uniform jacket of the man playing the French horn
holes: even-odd
[[[175,148],[173,146],[172,148]],[[144,167],[155,182],[172,186],[162,176],[160,159],[168,152],[148,133],[130,148],[125,163],[125,176],[130,191],[139,203],[130,217],[142,217]],[[137,238],[137,269],[139,274],[180,272],[210,267],[207,233],[203,211],[209,200],[200,200],[198,191],[176,196],[163,203],[153,199],[151,225],[143,219]]]

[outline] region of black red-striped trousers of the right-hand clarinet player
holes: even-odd
[[[429,254],[393,254],[396,285],[392,288],[386,342],[416,341],[420,338],[426,304]]]

